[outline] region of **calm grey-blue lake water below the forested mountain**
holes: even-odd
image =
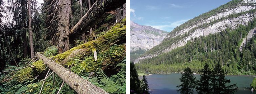
[[[152,74],[148,75],[147,81],[149,88],[152,89],[151,94],[179,94],[176,90],[180,84],[179,78],[181,74]],[[199,80],[200,75],[195,75],[196,79]],[[256,94],[256,91],[251,92],[250,84],[255,76],[231,76],[228,75],[226,78],[230,79],[231,83],[238,86],[238,91],[235,94]],[[142,78],[142,77],[139,77]],[[196,91],[194,91],[197,94]]]

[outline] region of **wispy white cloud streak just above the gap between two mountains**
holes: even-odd
[[[151,26],[151,27],[156,28],[156,29],[167,31],[167,29],[174,29],[175,27],[183,24],[186,21],[188,21],[188,20],[175,21],[175,22],[173,22],[173,23],[171,23],[169,25],[148,25],[148,26]]]

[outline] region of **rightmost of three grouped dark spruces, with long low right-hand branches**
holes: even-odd
[[[226,72],[222,69],[220,62],[217,63],[213,70],[212,75],[212,90],[213,94],[234,94],[237,91],[236,84],[226,86],[226,83],[230,83],[230,79],[225,78]],[[236,87],[236,88],[233,88]]]

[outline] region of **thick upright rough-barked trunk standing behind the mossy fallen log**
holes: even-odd
[[[61,11],[59,14],[59,23],[58,23],[58,53],[63,53],[69,50],[69,14],[70,14],[70,0],[60,0]]]

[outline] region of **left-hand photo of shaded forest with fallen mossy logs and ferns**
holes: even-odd
[[[0,94],[125,94],[126,1],[37,5],[0,0]]]

